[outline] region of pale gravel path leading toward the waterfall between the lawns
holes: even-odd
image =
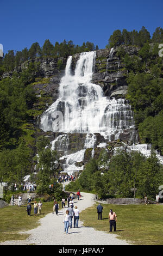
[[[81,212],[95,203],[94,196],[90,193],[82,193],[82,198],[79,201],[74,199],[74,206],[77,205]],[[30,234],[28,239],[5,241],[0,245],[129,245],[127,241],[117,239],[117,236],[113,233],[108,234],[91,227],[84,227],[80,218],[79,227],[69,228],[69,234],[65,234],[63,218],[66,209],[60,209],[58,216],[55,213],[47,214],[40,219],[39,227],[23,232],[23,234]]]

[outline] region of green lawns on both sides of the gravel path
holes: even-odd
[[[135,245],[163,245],[163,205],[111,205],[103,204],[103,220],[97,220],[97,204],[80,214],[84,225],[97,230],[109,231],[108,214],[110,209],[117,215],[117,237]],[[19,231],[30,230],[39,225],[39,219],[52,212],[53,202],[43,203],[40,216],[27,216],[26,205],[0,209],[0,242],[26,239],[28,235]],[[61,205],[60,205],[61,209]],[[112,232],[114,234],[114,232]]]

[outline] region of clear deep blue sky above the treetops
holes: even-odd
[[[163,28],[163,0],[0,0],[0,44],[8,50],[64,39],[105,48],[116,29]]]

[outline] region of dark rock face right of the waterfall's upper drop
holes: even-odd
[[[134,49],[133,49],[134,48]],[[135,47],[124,48],[126,53],[135,53]],[[110,49],[98,50],[96,52],[95,71],[92,75],[92,83],[102,87],[104,95],[109,97],[125,97],[127,94],[128,71],[124,64],[116,57],[117,48],[112,52]]]

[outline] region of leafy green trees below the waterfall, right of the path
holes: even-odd
[[[98,160],[91,159],[79,178],[66,189],[80,188],[96,193],[99,198],[143,198],[147,194],[148,199],[155,199],[163,178],[162,166],[154,154],[146,158],[137,152],[119,151],[108,163],[105,152]],[[101,164],[105,166],[103,174]]]

